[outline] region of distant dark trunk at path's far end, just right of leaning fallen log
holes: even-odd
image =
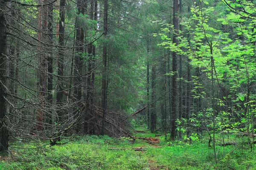
[[[151,84],[151,125],[150,125],[150,130],[151,132],[155,132],[157,129],[157,109],[156,109],[156,102],[157,102],[157,94],[156,94],[156,68],[157,65],[153,64],[152,65],[152,71],[151,71],[151,76],[152,76],[152,84]]]

